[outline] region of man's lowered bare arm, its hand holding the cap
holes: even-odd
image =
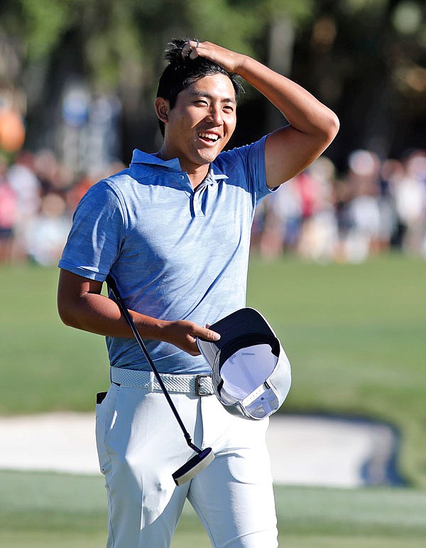
[[[61,320],[90,333],[132,338],[133,333],[115,301],[101,294],[102,281],[94,281],[61,269],[58,311]],[[199,355],[196,337],[217,340],[219,335],[191,321],[165,321],[129,311],[142,338],[164,340],[190,355]]]

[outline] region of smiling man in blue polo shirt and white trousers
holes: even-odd
[[[214,547],[277,546],[265,434],[268,419],[228,414],[210,395],[178,387],[209,373],[197,337],[245,306],[253,213],[259,200],[305,169],[339,122],[306,90],[256,60],[198,41],[173,41],[155,113],[157,154],[134,151],[129,169],[82,198],[60,261],[58,307],[67,325],[107,336],[111,387],[97,405],[99,463],[109,500],[112,548],[170,546],[185,499]],[[222,152],[236,126],[243,77],[289,124]],[[198,446],[216,458],[189,483],[172,473],[192,452],[115,301],[117,281],[173,402]],[[204,327],[206,326],[206,327]],[[141,371],[146,373],[141,373]]]

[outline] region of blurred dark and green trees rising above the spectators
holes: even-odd
[[[424,22],[422,0],[4,0],[0,77],[23,90],[33,148],[57,142],[72,78],[92,96],[116,95],[127,161],[135,146],[158,146],[165,44],[198,36],[256,55],[336,110],[341,131],[327,154],[343,167],[354,148],[387,156],[424,143]],[[247,91],[233,144],[282,123]]]

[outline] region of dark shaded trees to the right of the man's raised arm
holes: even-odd
[[[298,36],[293,76],[338,112],[331,152],[339,166],[357,148],[382,158],[424,148],[424,2],[320,0],[317,10]]]

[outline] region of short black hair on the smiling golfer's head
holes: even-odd
[[[239,97],[244,93],[244,88],[241,85],[240,77],[233,72],[228,72],[217,63],[204,57],[191,59],[189,56],[182,56],[182,49],[187,43],[187,40],[173,38],[168,43],[165,50],[165,59],[168,60],[168,65],[163,70],[163,74],[158,81],[157,97],[167,99],[170,104],[170,109],[176,104],[179,93],[200,78],[212,74],[224,74],[232,82],[235,91],[235,99],[238,102]],[[164,136],[164,122],[158,120],[160,124],[161,134]]]

